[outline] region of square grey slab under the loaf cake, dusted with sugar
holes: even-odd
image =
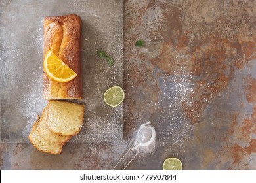
[[[83,129],[70,142],[114,142],[123,137],[123,105],[111,108],[102,95],[123,84],[123,3],[121,1],[1,1],[1,142],[28,142],[43,99],[43,18],[81,16]],[[96,56],[105,50],[116,63]],[[80,101],[79,101],[80,102]]]

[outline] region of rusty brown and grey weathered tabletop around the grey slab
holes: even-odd
[[[254,1],[125,1],[123,142],[67,144],[60,156],[1,144],[3,169],[112,169],[148,120],[156,147],[129,169],[171,156],[184,169],[256,169],[255,17]]]

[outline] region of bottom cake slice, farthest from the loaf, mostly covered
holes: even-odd
[[[37,148],[37,150],[41,152],[47,152],[50,154],[60,154],[62,152],[62,145],[53,143],[41,137],[37,131],[38,122],[33,124],[32,130],[30,131],[30,135],[28,139],[32,145]]]

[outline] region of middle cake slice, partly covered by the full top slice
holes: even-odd
[[[48,107],[45,107],[43,109],[41,118],[38,121],[37,131],[39,132],[39,135],[44,139],[47,139],[48,141],[54,142],[56,144],[64,145],[66,142],[68,142],[71,139],[72,136],[58,135],[56,133],[49,131],[49,129],[47,128],[47,112],[48,112]]]

